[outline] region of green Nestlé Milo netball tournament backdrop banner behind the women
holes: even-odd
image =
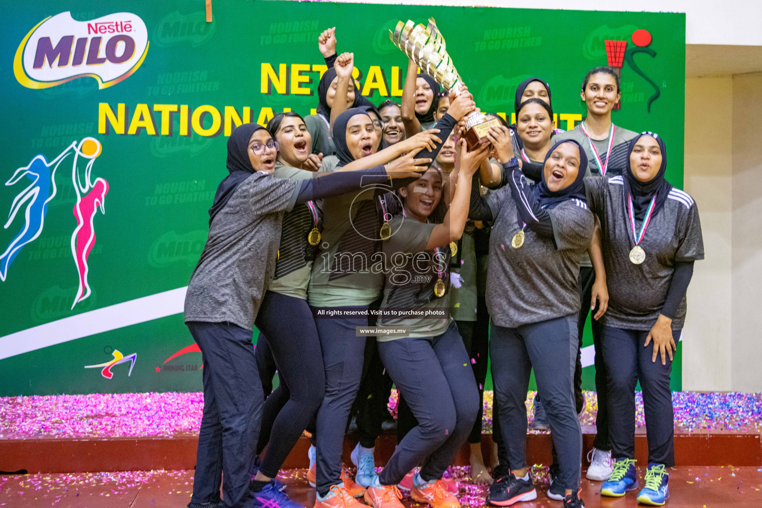
[[[336,27],[360,90],[402,95],[389,28],[433,16],[482,110],[552,85],[559,128],[581,120],[585,72],[622,66],[614,121],[670,145],[683,181],[684,14],[325,2],[39,0],[6,5],[0,208],[0,395],[196,391],[184,287],[242,121],[317,106],[317,37]],[[256,335],[256,332],[255,332]],[[585,346],[591,344],[588,334]],[[585,350],[588,359],[590,349]],[[680,349],[673,388],[680,388]],[[592,388],[592,367],[584,372]],[[488,383],[488,388],[490,384]]]

